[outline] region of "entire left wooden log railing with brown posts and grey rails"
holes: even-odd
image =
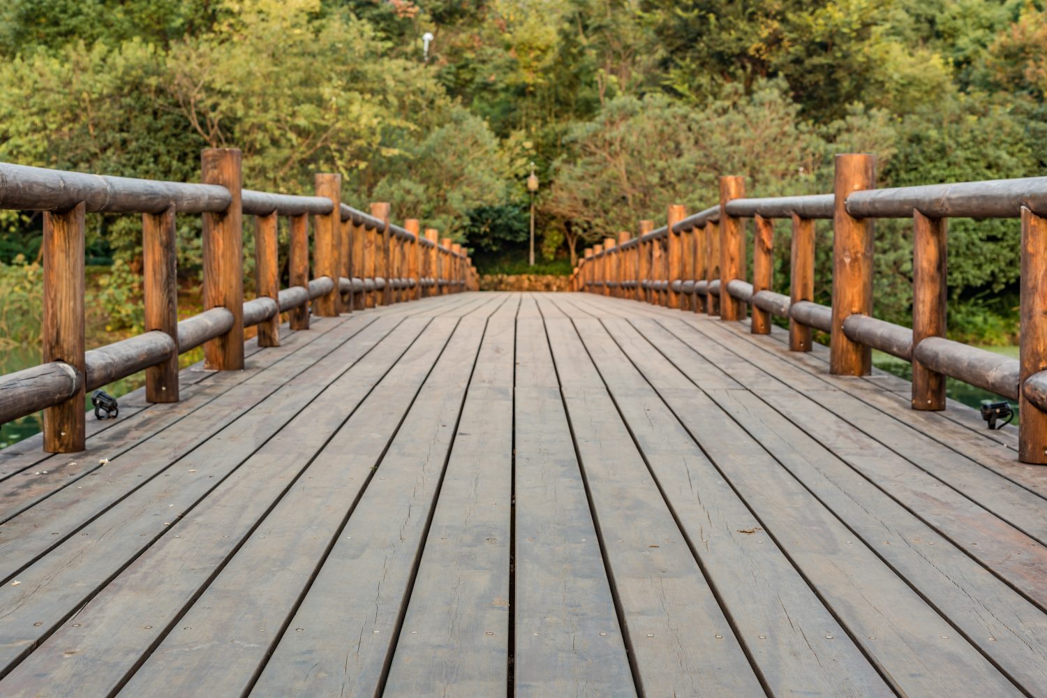
[[[44,213],[43,361],[0,377],[0,423],[44,410],[44,450],[84,449],[86,392],[146,370],[149,402],[178,402],[178,356],[203,344],[207,368],[244,367],[244,328],[280,344],[318,316],[475,289],[471,261],[419,222],[341,203],[341,176],[317,174],[315,196],[244,189],[241,155],[205,150],[202,183],[105,177],[0,163],[0,208]],[[140,213],[146,332],[85,351],[84,216]],[[202,313],[178,321],[175,219],[203,215]],[[244,302],[243,217],[254,217],[257,298]],[[277,219],[289,218],[289,287],[280,288]],[[309,218],[313,218],[312,273]]]

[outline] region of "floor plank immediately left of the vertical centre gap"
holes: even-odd
[[[488,321],[383,695],[506,692],[515,310]]]

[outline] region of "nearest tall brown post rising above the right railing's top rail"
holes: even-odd
[[[872,370],[872,351],[844,334],[844,321],[855,313],[872,315],[872,219],[856,219],[845,202],[852,192],[876,185],[871,155],[838,155],[832,217],[832,333],[829,373],[866,376]]]

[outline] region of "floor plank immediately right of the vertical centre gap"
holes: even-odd
[[[514,692],[633,695],[634,685],[545,330],[516,322]]]

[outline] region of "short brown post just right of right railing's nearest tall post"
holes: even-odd
[[[913,211],[913,409],[945,409],[945,377],[916,359],[916,345],[945,336],[948,221]]]

